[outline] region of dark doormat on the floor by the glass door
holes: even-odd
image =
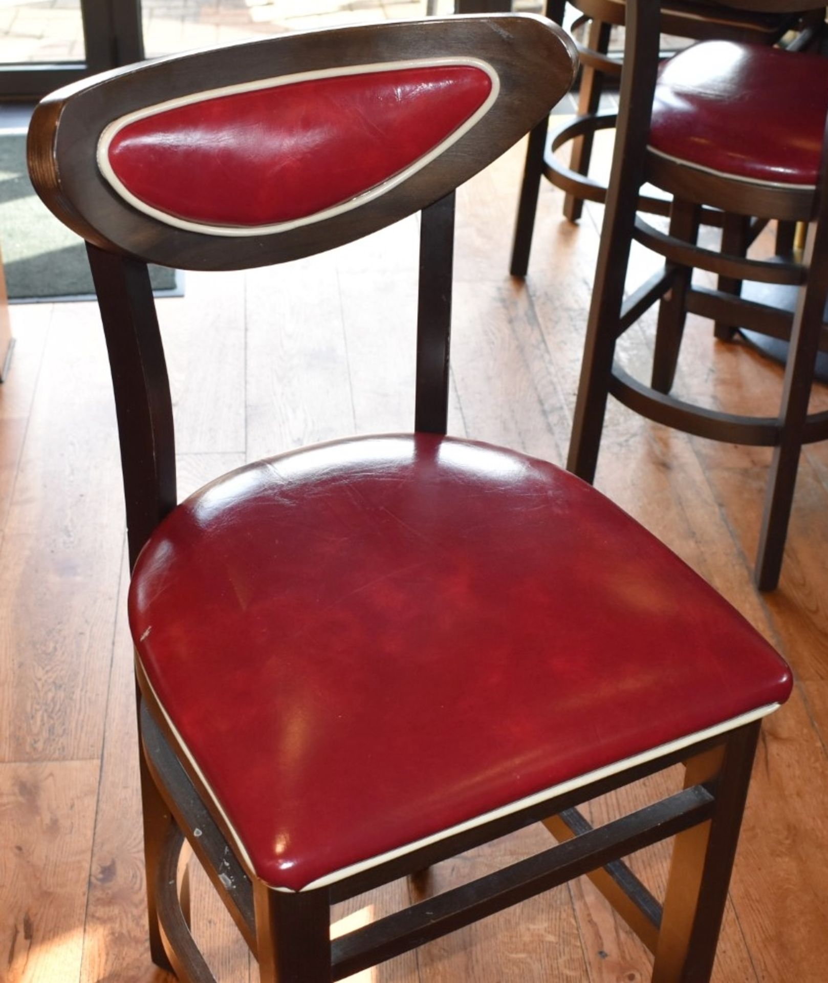
[[[83,239],[55,218],[28,180],[26,134],[0,134],[0,249],[12,301],[94,296]],[[158,296],[180,296],[183,275],[150,266]]]

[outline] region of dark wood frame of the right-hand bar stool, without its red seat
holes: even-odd
[[[779,581],[788,522],[803,443],[828,437],[828,413],[807,413],[816,354],[828,348],[822,312],[828,293],[828,200],[825,152],[819,192],[749,185],[673,164],[648,152],[649,116],[658,60],[658,32],[649,21],[658,0],[630,0],[619,116],[618,150],[587,324],[575,423],[568,468],[592,481],[611,393],[635,412],[688,434],[725,442],[774,448],[765,498],[755,579],[761,590]],[[785,9],[784,3],[754,0],[753,9]],[[828,144],[826,144],[828,146]],[[645,182],[674,196],[668,234],[635,214],[635,196]],[[704,205],[731,214],[720,253],[695,243]],[[759,216],[753,220],[751,216]],[[801,261],[745,259],[747,245],[769,218],[810,223]],[[624,299],[633,240],[665,257],[664,268]],[[691,284],[693,268],[719,275],[718,289]],[[740,295],[742,281],[799,288],[792,320],[789,311]],[[619,336],[654,303],[661,304],[651,385],[646,386],[613,364]],[[718,322],[729,336],[740,325],[773,337],[791,339],[781,407],[776,417],[747,417],[691,405],[669,394],[676,369],[685,315]]]

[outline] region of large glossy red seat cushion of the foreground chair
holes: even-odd
[[[130,622],[256,874],[293,890],[791,687],[601,494],[430,434],[197,492],[141,552]]]

